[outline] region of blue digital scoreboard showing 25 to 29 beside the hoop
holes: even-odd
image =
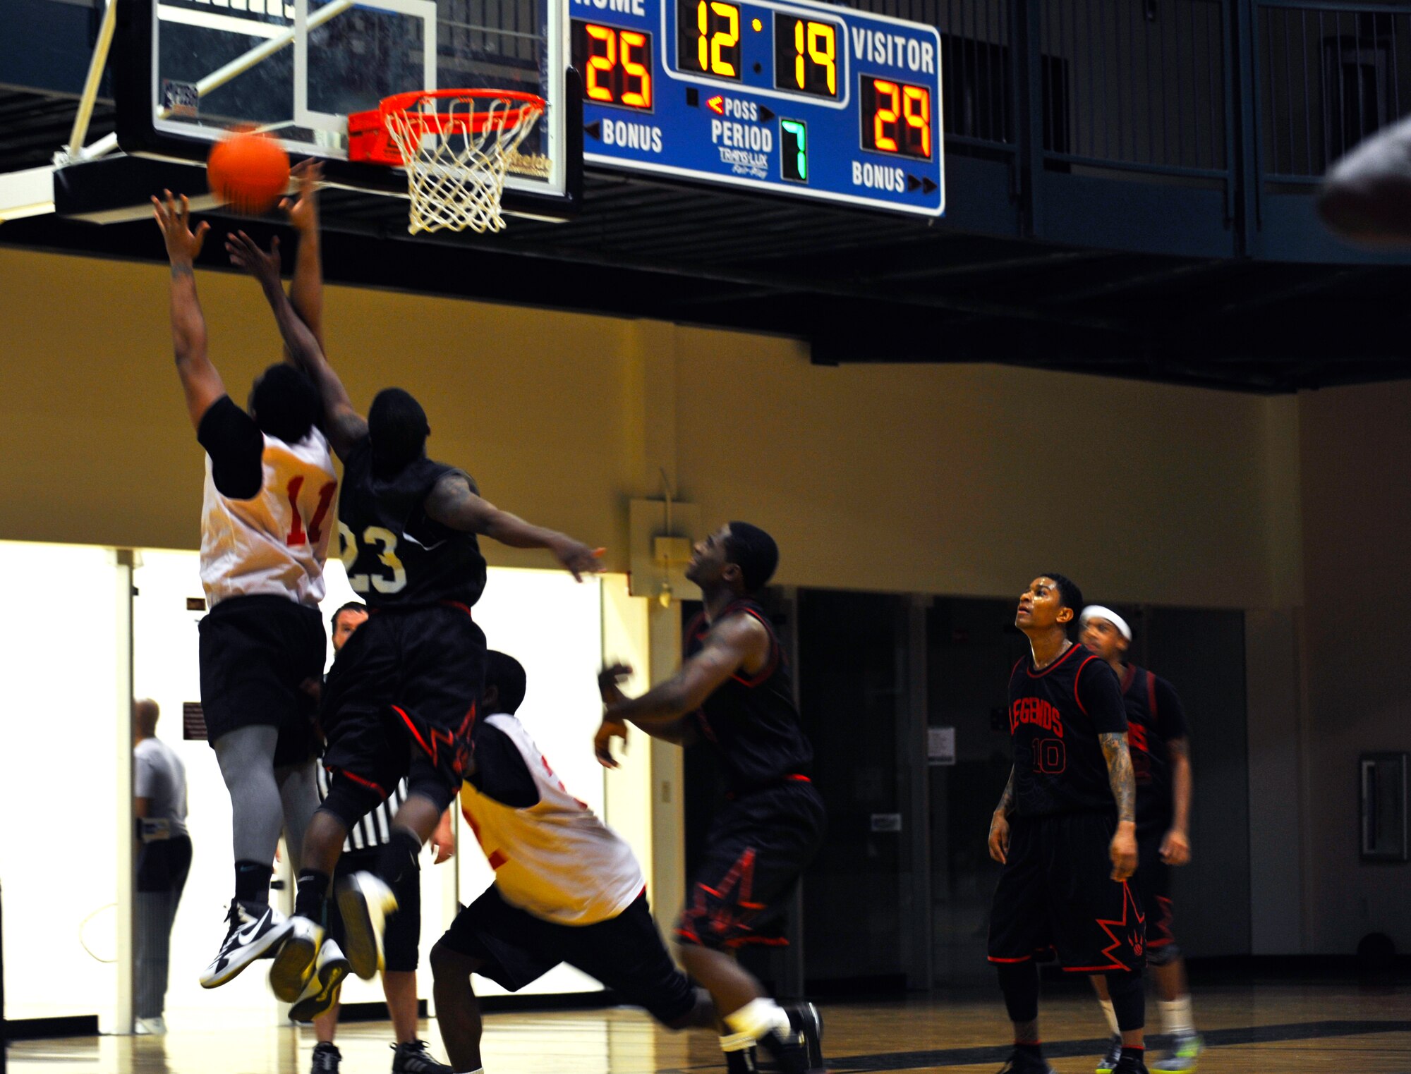
[[[584,159],[937,217],[941,38],[807,0],[570,0]]]

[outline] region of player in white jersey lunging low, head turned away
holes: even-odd
[[[715,1008],[672,964],[631,847],[564,788],[515,710],[525,671],[490,653],[473,771],[460,803],[495,882],[432,949],[436,1019],[452,1068],[480,1071],[483,974],[515,992],[559,963],[595,977],[672,1029],[715,1025]]]

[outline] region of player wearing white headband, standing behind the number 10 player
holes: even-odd
[[[1127,709],[1127,746],[1137,784],[1136,887],[1147,912],[1147,965],[1161,995],[1161,1027],[1171,1037],[1170,1054],[1151,1070],[1195,1070],[1204,1050],[1191,1016],[1185,960],[1175,943],[1171,912],[1171,867],[1191,860],[1191,751],[1185,709],[1170,682],[1126,660],[1132,627],[1109,607],[1082,609],[1081,641],[1108,661],[1122,684]],[[1105,981],[1094,978],[1103,1013],[1112,1020]],[[1109,1056],[1098,1074],[1112,1070]]]

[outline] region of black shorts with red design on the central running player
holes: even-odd
[[[706,836],[677,942],[714,950],[787,944],[789,896],[825,827],[823,798],[803,777],[728,801]]]

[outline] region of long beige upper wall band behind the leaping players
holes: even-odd
[[[243,402],[278,354],[272,320],[250,279],[198,282]],[[202,455],[166,269],[0,249],[0,537],[195,547]],[[82,300],[56,310],[61,293]],[[773,530],[785,584],[995,595],[1062,569],[1103,599],[1226,607],[1295,588],[1268,479],[1292,450],[1290,400],[1000,365],[821,368],[790,340],[349,288],[326,319],[354,402],[408,388],[435,454],[617,569],[625,502],[656,495],[665,467],[707,520]]]

